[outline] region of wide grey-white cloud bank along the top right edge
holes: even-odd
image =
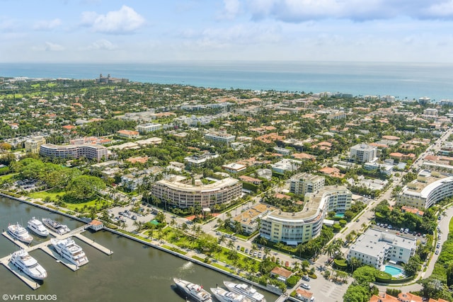
[[[367,21],[398,16],[451,18],[453,0],[248,0],[254,19],[275,18],[285,22],[317,19]]]

